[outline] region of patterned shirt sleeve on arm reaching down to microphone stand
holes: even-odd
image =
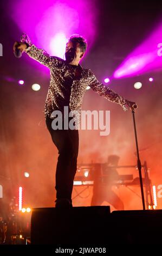
[[[111,90],[104,84],[100,83],[90,69],[89,69],[89,86],[96,93],[105,97],[107,100],[112,101],[112,102],[117,103],[120,106],[122,106],[124,111],[127,111],[129,109],[129,106],[130,106],[129,101],[124,99],[124,97],[115,93],[113,90]]]

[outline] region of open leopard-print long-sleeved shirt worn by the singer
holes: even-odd
[[[67,64],[59,57],[49,56],[43,49],[38,49],[34,44],[31,44],[29,36],[25,33],[21,36],[21,42],[27,43],[28,47],[24,52],[27,53],[29,57],[37,60],[50,69],[50,83],[44,107],[45,118],[47,115],[48,117],[53,118],[52,112],[54,110],[63,111],[67,92],[65,84],[67,84],[69,78],[73,80],[73,82],[70,90],[68,107],[72,112],[74,111],[75,113],[75,111],[77,111],[77,113],[79,113],[79,115],[75,117],[77,119],[75,129],[79,128],[82,100],[87,86],[109,101],[121,105],[124,111],[127,111],[129,108],[129,101],[100,83],[90,69],[83,69],[82,66],[79,65],[81,76],[79,79],[74,80],[75,69],[73,65]]]

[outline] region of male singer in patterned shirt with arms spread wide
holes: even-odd
[[[81,113],[82,99],[87,86],[109,101],[118,103],[124,111],[134,109],[135,102],[113,92],[100,83],[90,69],[84,69],[79,64],[87,50],[86,40],[77,34],[70,36],[66,44],[65,57],[49,56],[43,49],[38,49],[28,35],[23,34],[20,42],[15,42],[14,52],[25,52],[29,57],[37,60],[50,69],[50,84],[45,103],[44,114],[51,139],[59,151],[56,167],[56,204],[57,208],[72,207],[73,180],[77,168],[77,155],[79,149],[78,116],[75,119],[75,129],[53,129],[54,111],[61,111],[64,106],[70,111]],[[137,107],[137,106],[136,106]],[[70,121],[72,117],[68,117]],[[80,117],[79,117],[80,119]]]

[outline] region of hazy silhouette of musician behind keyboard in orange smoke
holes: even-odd
[[[109,155],[107,163],[101,164],[102,175],[96,172],[94,178],[92,206],[101,205],[104,201],[111,204],[116,210],[124,210],[124,204],[121,199],[112,190],[115,181],[119,179],[116,170],[120,157],[117,155]]]

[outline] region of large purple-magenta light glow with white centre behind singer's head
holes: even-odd
[[[22,0],[21,11],[17,0],[11,2],[8,9],[20,30],[29,35],[33,44],[51,56],[63,58],[66,39],[72,34],[85,37],[89,42],[88,49],[95,40],[98,10],[93,0],[77,3],[68,0],[33,0],[32,8],[27,8],[27,2]]]

